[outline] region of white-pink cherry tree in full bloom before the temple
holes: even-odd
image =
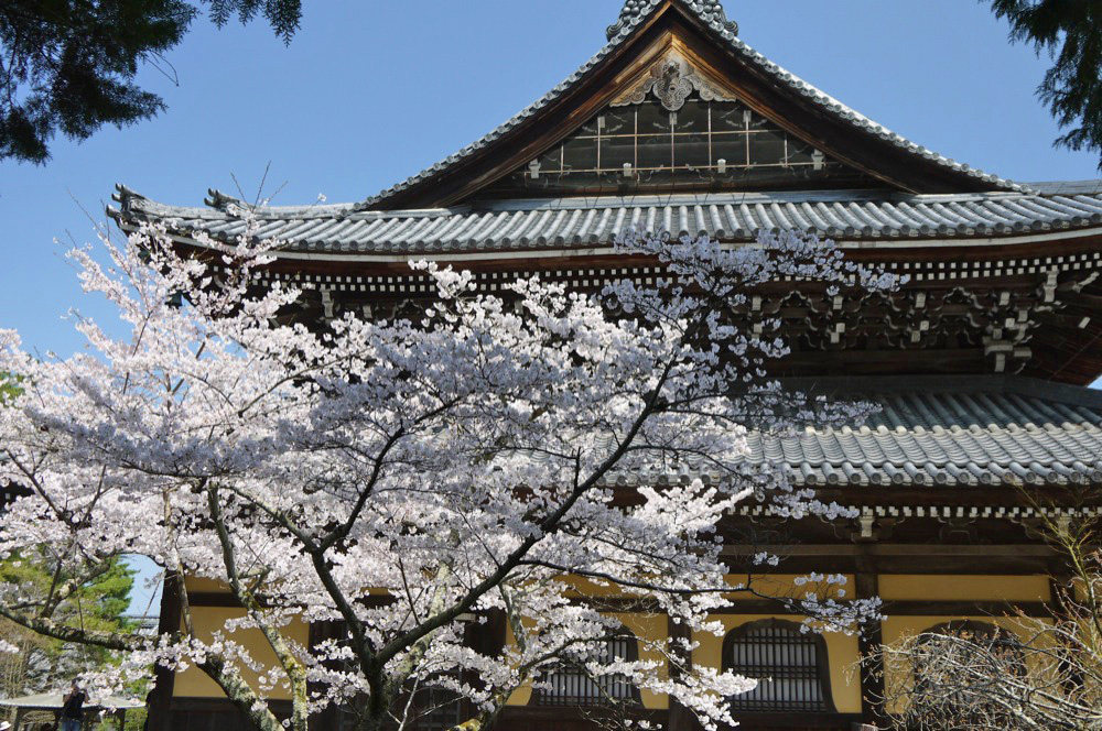
[[[0,617],[118,652],[116,670],[89,678],[104,690],[151,666],[197,667],[264,731],[283,728],[266,703],[277,688],[298,731],[331,705],[355,709],[359,729],[401,725],[419,688],[468,699],[463,728],[479,729],[565,662],[668,694],[705,728],[732,722],[725,699],[753,680],[685,663],[685,639],[609,655],[623,630],[593,598],[721,633],[710,613],[755,591],[721,555],[738,502],[844,514],[748,458],[748,429],[854,423],[864,407],[769,382],[787,350],[747,293],[893,277],[802,234],[650,238],[622,247],[661,260],[668,281],[653,286],[586,295],[533,277],[495,296],[415,262],[436,293],[415,317],[307,326],[287,317],[302,292],[255,284],[278,242],[201,243],[206,255],[184,254],[149,225],[106,237],[105,255],[72,252],[123,337],[78,319],[85,352],[37,359],[0,331],[0,372],[21,378],[0,407],[0,479],[30,493],[0,517],[0,557],[48,545],[60,577],[40,592],[0,586]],[[83,577],[136,553],[179,582],[180,632],[122,636],[55,614]],[[242,618],[201,634],[185,576],[224,585]],[[876,611],[840,601],[839,580],[809,577],[829,591],[789,600],[814,629]],[[511,641],[467,642],[490,617]],[[303,646],[301,622],[336,630]]]

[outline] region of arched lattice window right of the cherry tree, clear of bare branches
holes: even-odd
[[[792,622],[750,622],[724,642],[724,667],[759,680],[731,699],[739,711],[833,711],[827,647],[822,637]]]

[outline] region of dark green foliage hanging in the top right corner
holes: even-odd
[[[1067,131],[1057,146],[1099,153],[1102,170],[1102,3],[1096,0],[991,0],[1011,40],[1047,52],[1054,66],[1037,96]]]

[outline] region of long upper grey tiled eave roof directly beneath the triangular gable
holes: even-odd
[[[182,233],[233,238],[245,230],[233,200],[217,193],[212,193],[209,208],[166,206],[121,187],[116,199],[122,204],[123,219],[173,220]],[[259,234],[282,239],[291,251],[432,254],[592,247],[608,244],[630,229],[735,241],[753,240],[759,230],[789,228],[838,239],[1082,229],[1102,225],[1102,192],[725,193],[503,200],[477,208],[396,211],[364,211],[355,205],[271,207],[257,209],[256,215],[263,225]]]

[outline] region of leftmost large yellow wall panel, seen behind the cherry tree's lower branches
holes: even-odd
[[[227,620],[245,617],[245,610],[234,607],[193,607],[192,621],[195,624],[195,633],[201,640],[209,641],[216,630],[223,629]],[[183,629],[183,628],[181,628]],[[282,629],[283,635],[289,640],[300,643],[303,646],[310,640],[310,628],[302,622],[294,622]],[[251,656],[270,668],[278,668],[279,661],[276,653],[268,645],[268,641],[259,630],[238,630],[228,635],[234,641],[248,648]],[[257,674],[244,668],[241,677],[256,688]],[[282,672],[280,672],[282,677]],[[172,695],[179,698],[223,698],[222,688],[215,685],[207,675],[191,666],[183,673],[177,673]],[[291,695],[283,688],[277,687],[271,691],[270,697],[276,700],[290,700]]]

